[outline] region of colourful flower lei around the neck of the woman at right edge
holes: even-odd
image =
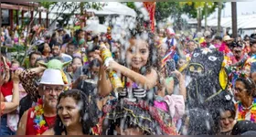
[[[252,105],[249,108],[244,108],[241,102],[238,103],[238,121],[242,121],[246,119],[246,114],[248,112],[251,113],[251,121],[256,122],[256,98],[253,99]]]

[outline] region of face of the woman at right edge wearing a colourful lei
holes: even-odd
[[[249,95],[245,88],[245,85],[241,81],[237,81],[235,85],[235,96],[237,100],[247,100]]]

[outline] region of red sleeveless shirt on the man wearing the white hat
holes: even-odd
[[[32,116],[31,115],[32,111],[35,111],[35,107],[30,108],[27,112],[26,135],[37,135],[37,130],[34,128],[34,125],[35,125],[34,119],[35,119],[36,115],[34,114],[34,116]],[[44,118],[45,118],[45,121],[48,124],[48,129],[53,127],[53,125],[55,123],[55,120],[56,120],[56,116],[54,116],[54,117],[44,117]],[[46,131],[47,131],[47,129],[46,129]]]

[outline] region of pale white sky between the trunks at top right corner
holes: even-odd
[[[256,1],[252,1],[252,2],[237,2],[237,12],[238,12],[238,16],[242,15],[242,14],[252,14],[253,12],[255,12],[256,14]],[[212,16],[218,16],[218,10],[216,10],[215,13],[213,13],[211,15]],[[225,4],[225,8],[222,10],[222,16],[231,16],[231,3],[227,2]]]

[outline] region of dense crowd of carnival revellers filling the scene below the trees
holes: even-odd
[[[256,34],[33,35],[24,64],[1,51],[0,135],[256,134]]]

